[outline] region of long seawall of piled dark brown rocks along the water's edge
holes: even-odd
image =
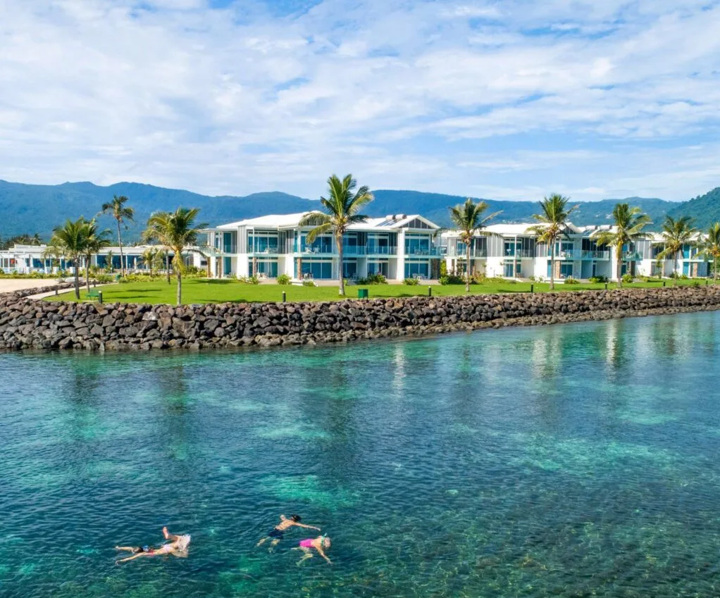
[[[183,307],[7,294],[0,296],[0,349],[305,345],[714,309],[720,286]]]

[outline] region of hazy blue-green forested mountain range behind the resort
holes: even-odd
[[[375,200],[367,212],[371,216],[385,214],[423,214],[438,225],[449,226],[448,207],[464,201],[464,196],[454,196],[421,191],[373,191]],[[88,182],[63,183],[60,185],[28,185],[0,180],[0,237],[23,233],[40,233],[48,238],[53,227],[66,219],[81,215],[93,217],[100,207],[113,195],[130,198],[128,205],[135,209],[135,224],[130,223],[127,239],[137,239],[143,223],[151,212],[174,210],[179,206],[199,207],[200,219],[209,225],[235,222],[264,214],[289,214],[318,208],[318,201],[270,191],[248,196],[207,196],[166,189],[140,183],[117,183],[99,186]],[[497,201],[485,199],[489,212],[502,211],[493,222],[529,222],[538,212],[536,201]],[[666,214],[673,217],[687,214],[695,219],[698,227],[707,227],[720,220],[720,187],[688,201],[665,201],[663,199],[629,197],[603,199],[601,201],[572,202],[579,207],[572,214],[576,225],[603,224],[611,222],[613,206],[627,201],[649,214],[657,229]],[[101,217],[102,225],[114,229],[110,217]]]

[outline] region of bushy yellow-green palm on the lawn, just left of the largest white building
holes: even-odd
[[[173,267],[178,280],[177,304],[182,302],[182,253],[192,245],[197,245],[197,235],[206,224],[196,225],[199,208],[178,208],[175,212],[155,212],[148,218],[148,228],[143,233],[147,239],[153,239],[174,253]]]

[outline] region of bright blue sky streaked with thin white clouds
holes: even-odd
[[[720,0],[0,0],[0,178],[720,186]]]

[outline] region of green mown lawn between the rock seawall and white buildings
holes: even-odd
[[[693,281],[679,281],[685,286]],[[666,282],[667,286],[672,284]],[[705,284],[701,281],[701,284]],[[615,284],[608,284],[614,289]],[[624,287],[651,288],[662,286],[660,282],[625,284]],[[588,291],[604,289],[604,284],[556,284],[556,291]],[[408,297],[427,295],[428,285],[406,286],[404,284],[378,284],[369,286],[346,286],[347,297],[357,297],[358,289],[369,289],[370,297]],[[464,295],[464,285],[433,285],[433,296]],[[549,291],[549,284],[534,283],[536,292]],[[273,302],[282,301],[282,293],[287,293],[287,301],[333,301],[343,299],[338,296],[337,286],[280,286],[277,284],[244,284],[238,281],[189,278],[183,281],[183,303],[225,303],[225,302]],[[470,294],[489,293],[527,293],[530,283],[510,281],[487,281],[485,284],[474,284]],[[81,299],[86,298],[86,291],[81,290]],[[164,280],[130,282],[112,284],[102,287],[104,302],[125,303],[175,303],[176,282],[170,285]],[[74,301],[73,292],[60,296],[48,297],[48,301]]]

